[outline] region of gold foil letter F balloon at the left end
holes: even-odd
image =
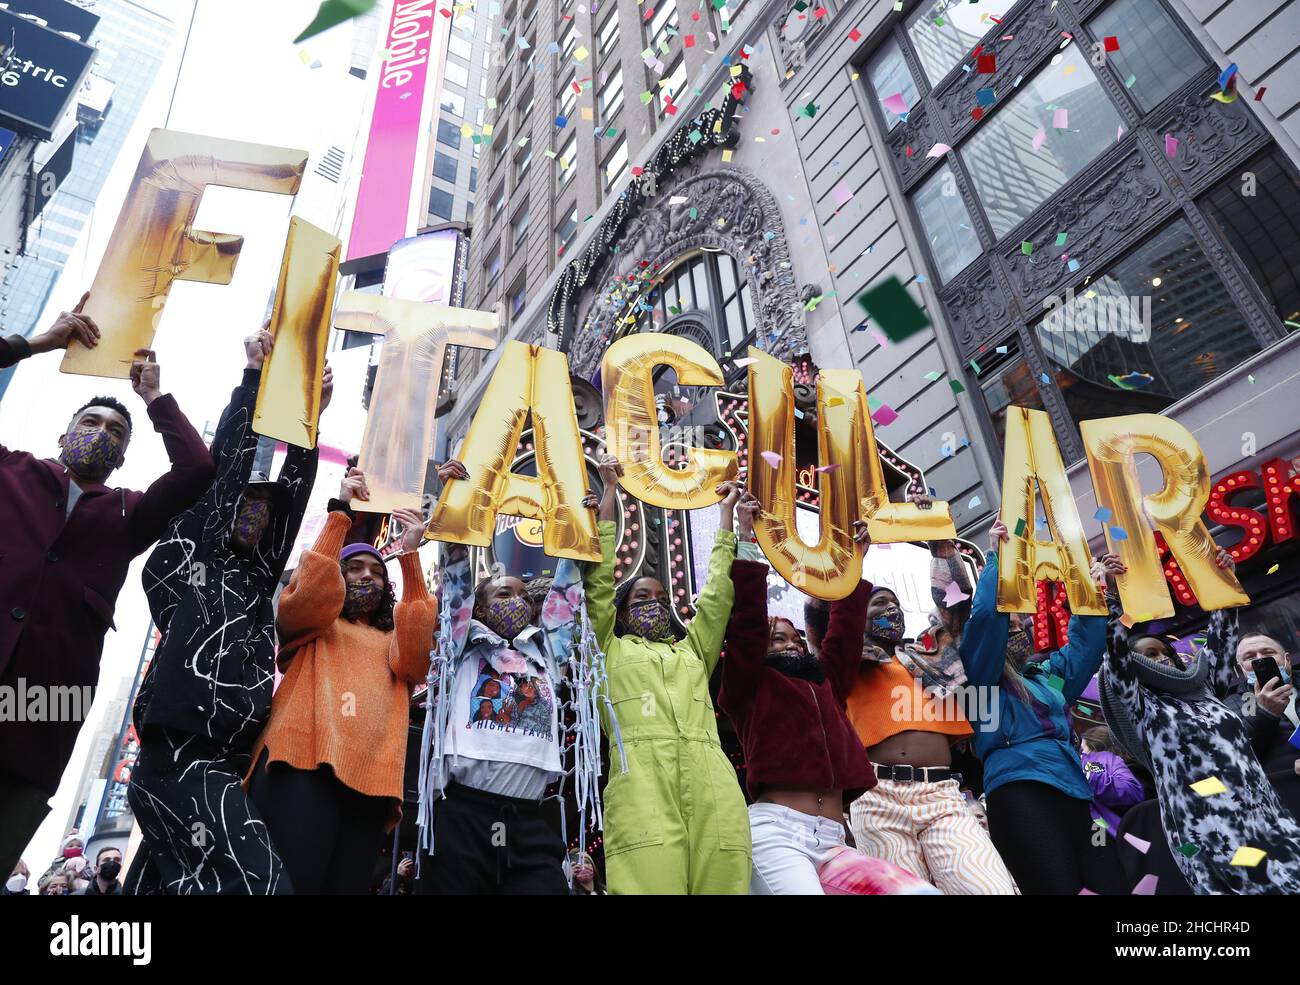
[[[99,346],[69,344],[60,369],[127,378],[135,350],[153,347],[174,281],[225,285],[234,275],[243,238],[194,227],[203,190],[294,195],[306,168],[307,151],[153,130],[86,303]]]

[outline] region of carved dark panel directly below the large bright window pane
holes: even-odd
[[[1160,179],[1153,164],[1136,144],[1113,168],[1075,195],[1066,195],[1039,213],[1037,221],[1004,247],[1002,262],[1011,292],[1031,314],[1043,309],[1043,299],[1061,295],[1071,283],[1097,273],[1121,249],[1176,208],[1174,194]],[[1058,233],[1067,234],[1063,247]],[[1034,243],[1026,256],[1020,242]],[[1071,270],[1069,261],[1078,260]]]

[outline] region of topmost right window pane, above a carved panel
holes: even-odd
[[[1205,68],[1200,51],[1152,0],[1118,0],[1088,27],[1098,42],[1114,38],[1119,43],[1119,51],[1106,52],[1106,60],[1143,109],[1154,109]]]

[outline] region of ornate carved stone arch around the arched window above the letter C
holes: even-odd
[[[675,196],[685,203],[670,205]],[[601,290],[584,292],[577,330],[560,339],[575,374],[590,378],[595,373],[628,303],[640,294],[624,290],[628,274],[664,270],[684,253],[702,248],[729,253],[746,272],[759,347],[783,360],[807,351],[785,224],[776,199],[755,174],[727,168],[660,185],[658,195],[624,226],[618,247],[601,273]]]

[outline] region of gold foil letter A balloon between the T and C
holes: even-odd
[[[586,465],[568,378],[563,352],[506,343],[460,450],[469,478],[443,487],[430,539],[488,547],[497,515],[507,513],[542,521],[551,557],[601,560],[595,513],[582,505]],[[511,472],[529,415],[537,478]]]

